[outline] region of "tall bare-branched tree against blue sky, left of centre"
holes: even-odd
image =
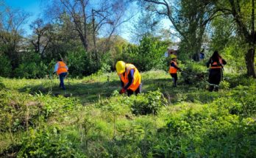
[[[57,0],[51,3],[51,8],[54,10],[51,14],[60,17],[65,12],[69,15],[85,51],[93,50],[97,60],[99,58],[95,50],[97,33],[100,29],[107,32],[106,28],[111,28],[107,35],[110,39],[115,29],[127,21],[122,19],[127,8],[124,7],[125,5],[127,5],[125,1],[118,0],[100,3],[93,1],[92,4],[89,0]]]

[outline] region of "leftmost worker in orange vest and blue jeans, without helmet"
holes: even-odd
[[[60,86],[59,87],[62,87],[63,90],[65,90],[64,79],[68,73],[68,66],[65,65],[65,62],[63,62],[63,59],[60,58],[57,60],[57,63],[54,68],[54,73],[57,73],[57,75],[60,78]]]

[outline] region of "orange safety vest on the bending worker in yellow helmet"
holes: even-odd
[[[124,74],[123,73],[118,74],[121,81],[124,82],[124,87],[129,82],[129,79],[128,79],[129,71],[134,69],[132,85],[130,85],[127,89],[132,90],[132,91],[137,90],[137,88],[141,85],[141,73],[138,71],[138,69],[135,67],[135,65],[132,65],[132,64],[126,64],[125,69],[126,69],[126,71],[124,72]]]

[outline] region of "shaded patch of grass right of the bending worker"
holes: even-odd
[[[173,86],[172,79],[145,79],[143,81],[143,92],[160,90],[167,98],[169,103],[177,103],[179,101],[188,101],[208,104],[217,98],[225,95],[224,90],[209,92],[204,85],[188,85],[182,81],[177,82],[177,87]],[[199,85],[199,86],[198,86]]]

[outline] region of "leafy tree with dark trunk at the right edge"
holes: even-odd
[[[213,18],[222,16],[231,18],[235,26],[235,33],[241,39],[246,61],[247,75],[256,78],[255,74],[255,0],[237,1],[237,0],[212,0],[216,12]],[[211,18],[210,20],[213,20]]]

